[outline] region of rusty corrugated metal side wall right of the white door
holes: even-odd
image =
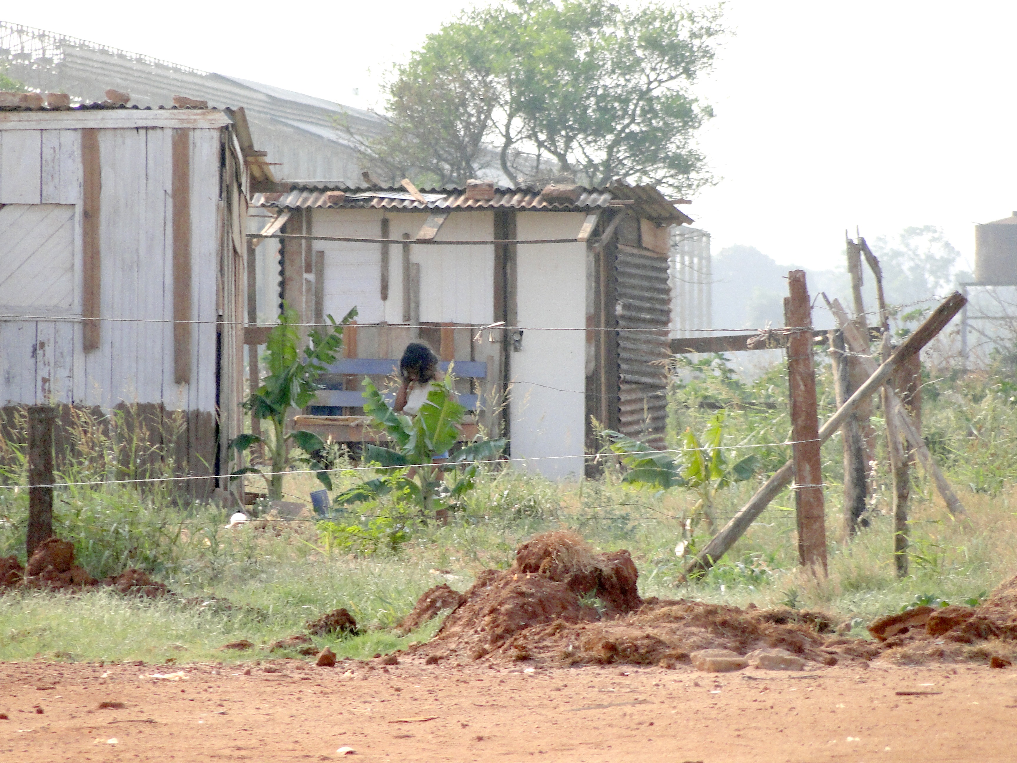
[[[618,319],[620,430],[664,448],[667,419],[668,328],[671,319],[666,257],[619,247],[615,266]],[[632,330],[642,331],[632,331]],[[660,361],[660,362],[656,362]]]

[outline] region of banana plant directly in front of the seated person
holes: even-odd
[[[461,498],[475,485],[478,461],[497,458],[504,439],[484,439],[461,448],[445,464],[432,464],[459,439],[466,408],[456,400],[451,375],[432,382],[433,389],[416,416],[396,413],[369,378],[364,378],[364,413],[373,426],[388,435],[392,447],[364,445],[363,461],[376,464],[381,476],[336,496],[340,506],[371,501],[394,491],[408,494],[431,515],[437,504]],[[467,466],[461,468],[464,464]],[[416,468],[414,468],[416,467]],[[451,482],[445,480],[451,475]]]

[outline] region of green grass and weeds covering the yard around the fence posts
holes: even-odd
[[[369,656],[430,636],[436,624],[406,638],[388,630],[424,590],[442,582],[464,590],[478,571],[511,565],[521,541],[560,527],[576,529],[603,550],[627,548],[639,567],[645,596],[817,607],[856,626],[918,596],[964,601],[1017,573],[1017,449],[1011,445],[1017,405],[1002,376],[985,372],[926,379],[925,436],[960,490],[968,517],[952,519],[916,469],[910,574],[903,579],[894,571],[883,468],[874,475],[871,526],[853,537],[844,530],[836,437],[823,451],[830,556],[826,579],[796,568],[793,496],[785,491],[708,575],[680,582],[683,559],[675,544],[696,496],[680,488],[654,491],[625,485],[610,460],[597,479],[573,482],[552,482],[515,469],[485,470],[446,526],[386,500],[335,518],[335,525],[375,533],[373,544],[333,543],[327,527],[311,517],[228,529],[227,510],[189,502],[179,491],[112,483],[76,486],[56,491],[54,521],[58,534],[74,541],[79,562],[97,577],[139,567],[179,595],[153,600],[124,598],[109,590],[5,594],[0,596],[0,659],[36,654],[65,659],[244,659],[251,653],[218,648],[237,639],[271,643],[340,606],[349,608],[368,633],[320,644],[332,644],[341,655]],[[684,369],[681,378],[670,391],[672,443],[684,427],[702,431],[720,409],[726,415],[726,444],[779,444],[788,438],[780,368],[750,383],[713,359]],[[820,398],[823,412],[829,413],[833,396],[825,369]],[[876,416],[879,426],[878,410]],[[94,444],[97,452],[89,456],[87,448],[79,448],[73,459],[65,459],[61,481],[92,481],[82,477],[97,474],[113,479],[128,468],[121,457],[111,455],[115,438],[89,431],[89,426],[81,424],[78,441]],[[16,438],[0,441],[2,479],[21,487],[0,489],[0,553],[19,554],[23,562],[27,496],[23,455],[13,442]],[[782,445],[758,449],[765,471],[783,463],[788,451]],[[350,466],[342,459],[338,464]],[[361,478],[362,473],[341,471],[336,489]],[[716,506],[721,521],[744,504],[763,478],[721,491]],[[308,501],[316,486],[310,475],[294,474],[285,490],[288,496]],[[693,542],[703,543],[706,537],[706,529],[698,528]]]

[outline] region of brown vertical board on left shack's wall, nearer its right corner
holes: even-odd
[[[191,224],[190,129],[173,130],[173,378],[190,383]]]

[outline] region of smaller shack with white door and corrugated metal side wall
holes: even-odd
[[[363,372],[391,370],[419,337],[456,361],[477,423],[528,468],[581,474],[592,418],[663,445],[669,234],[692,220],[656,188],[295,183],[252,204],[285,220],[281,299],[307,322],[356,306],[347,354],[388,361],[337,364],[308,411],[333,418],[305,428],[364,436],[342,415],[358,412]]]

